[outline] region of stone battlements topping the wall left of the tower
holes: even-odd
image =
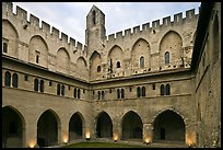
[[[50,36],[52,36],[55,39],[59,39],[62,43],[67,44],[67,45],[72,45],[74,47],[77,47],[78,50],[85,50],[86,46],[81,44],[80,42],[75,43],[75,39],[73,39],[72,37],[70,37],[70,42],[68,42],[68,35],[64,34],[63,32],[60,32],[59,30],[57,30],[54,26],[50,26],[50,24],[48,24],[45,21],[39,22],[39,19],[37,16],[35,16],[34,14],[30,14],[30,21],[27,20],[27,11],[25,11],[24,9],[20,8],[19,5],[16,5],[15,8],[15,13],[13,13],[13,3],[12,2],[2,2],[2,14],[11,14],[13,18],[15,18],[17,20],[17,22],[20,23],[24,23],[27,25],[28,28],[38,28],[39,32],[45,32],[47,34],[49,34]],[[51,33],[50,33],[50,27],[51,27]],[[60,37],[61,34],[61,37]]]

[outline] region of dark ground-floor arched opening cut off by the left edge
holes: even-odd
[[[16,109],[2,108],[2,148],[22,148],[24,128],[24,118]]]

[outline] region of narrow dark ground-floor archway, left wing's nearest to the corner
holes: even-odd
[[[73,114],[69,122],[69,140],[81,139],[82,128],[81,117],[77,113]]]

